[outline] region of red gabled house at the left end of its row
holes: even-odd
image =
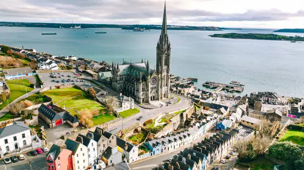
[[[73,170],[72,151],[52,145],[46,157],[47,170]]]

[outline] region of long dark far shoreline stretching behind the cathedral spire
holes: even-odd
[[[81,25],[81,28],[121,28],[124,30],[134,30],[141,28],[145,30],[161,30],[161,25],[117,25],[117,24],[79,24],[74,23],[74,26]],[[69,29],[73,27],[73,24],[64,23],[31,23],[31,22],[0,22],[0,26],[3,27],[40,27],[40,28],[61,28]],[[197,27],[197,26],[175,26],[168,25],[168,30],[198,30],[198,31],[222,31],[229,28],[218,27]]]

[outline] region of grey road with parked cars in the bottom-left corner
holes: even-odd
[[[25,159],[16,163],[4,165],[4,162],[0,161],[0,170],[31,170],[29,162],[31,162],[32,170],[47,170],[45,162],[46,153],[36,156],[23,155]]]

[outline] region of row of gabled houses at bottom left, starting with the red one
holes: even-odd
[[[48,170],[104,169],[138,159],[138,147],[116,135],[96,127],[86,135],[78,134],[75,140],[67,139],[64,146],[53,145],[47,154]]]

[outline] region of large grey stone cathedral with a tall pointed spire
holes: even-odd
[[[156,68],[151,69],[149,60],[139,63],[123,61],[112,63],[112,89],[122,91],[137,103],[150,103],[170,96],[170,42],[167,33],[166,4],[164,5],[162,29],[156,45]]]

